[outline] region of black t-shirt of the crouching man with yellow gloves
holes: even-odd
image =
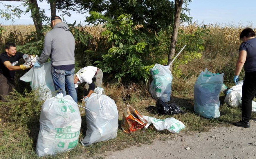
[[[16,52],[16,55],[10,57],[7,55],[6,52],[0,55],[0,73],[3,74],[5,77],[14,78],[15,71],[10,71],[8,68],[4,66],[5,61],[10,61],[12,66],[16,66],[20,58],[22,58],[24,54],[21,52]]]

